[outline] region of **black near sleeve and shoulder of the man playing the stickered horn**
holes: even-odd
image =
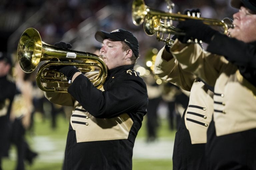
[[[102,91],[81,74],[73,81],[68,92],[96,118],[113,118],[147,104],[147,91],[143,83],[132,79],[113,81],[107,91]]]

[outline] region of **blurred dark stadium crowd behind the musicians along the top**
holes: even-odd
[[[173,0],[173,13],[199,8],[205,18],[223,19],[232,17],[234,8],[229,0]],[[165,0],[145,0],[153,9],[168,11]],[[88,51],[100,45],[94,33],[101,29],[117,28],[130,30],[139,40],[141,60],[145,52],[163,44],[147,36],[143,26],[135,26],[131,18],[132,0],[2,0],[0,2],[1,49],[14,52],[23,31],[37,29],[44,42],[54,44],[60,40],[71,42],[78,50]],[[7,42],[7,43],[6,43]]]

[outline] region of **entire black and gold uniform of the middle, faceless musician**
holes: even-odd
[[[158,52],[155,74],[183,90],[190,91],[188,107],[175,135],[173,170],[206,169],[204,152],[213,112],[213,87],[183,70],[175,58],[164,60],[164,55],[171,55],[168,50],[166,46]]]

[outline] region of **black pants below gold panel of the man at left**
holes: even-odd
[[[69,130],[63,170],[131,170],[132,149],[126,139],[77,143]]]

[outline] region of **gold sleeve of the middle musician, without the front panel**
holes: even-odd
[[[166,61],[162,58],[163,55],[171,55],[171,53],[168,52],[165,47],[158,52],[154,73],[161,79],[175,84],[183,90],[190,91],[196,76],[190,72],[182,70],[175,58]]]

